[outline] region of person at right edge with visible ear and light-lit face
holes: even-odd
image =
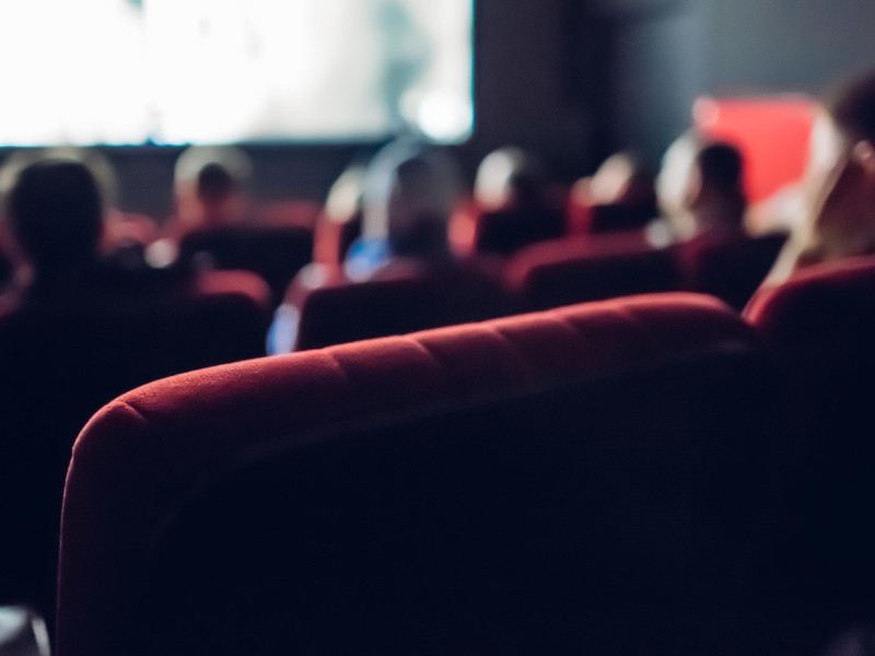
[[[875,255],[875,72],[847,83],[824,104],[803,197],[804,216],[770,284],[809,265]]]

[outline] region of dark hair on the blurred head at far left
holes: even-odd
[[[104,206],[100,185],[75,160],[23,168],[5,202],[12,235],[36,269],[59,269],[97,253]]]

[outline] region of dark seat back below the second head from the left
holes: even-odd
[[[260,276],[279,302],[289,282],[313,259],[313,229],[300,225],[232,225],[189,233],[179,261]]]

